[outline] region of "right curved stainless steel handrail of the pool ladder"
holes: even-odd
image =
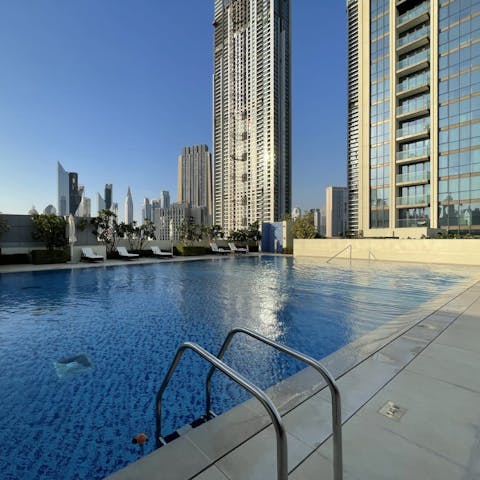
[[[330,389],[330,394],[332,396],[332,430],[333,430],[333,478],[334,480],[342,480],[343,478],[343,459],[342,459],[342,408],[341,408],[341,398],[340,391],[338,390],[335,379],[330,374],[330,372],[319,362],[313,358],[304,355],[296,350],[293,350],[290,347],[282,345],[274,340],[271,340],[263,335],[260,335],[253,330],[247,328],[234,328],[230,330],[225,341],[223,342],[222,348],[218,352],[217,358],[222,359],[227,351],[233,337],[237,333],[244,333],[250,337],[255,338],[287,355],[290,355],[297,360],[300,360],[307,365],[313,367],[323,379],[327,382],[328,388]],[[206,415],[207,417],[211,414],[211,383],[212,375],[214,373],[214,368],[212,367],[207,375],[206,382]]]

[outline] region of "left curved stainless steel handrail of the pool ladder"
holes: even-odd
[[[200,347],[200,345],[192,342],[185,342],[180,347],[178,347],[177,353],[173,362],[168,369],[165,378],[163,379],[162,385],[157,393],[156,398],[156,443],[157,448],[162,445],[162,396],[163,392],[167,388],[168,382],[172,378],[175,369],[177,368],[178,363],[183,355],[183,352],[187,349],[190,349],[200,355],[207,362],[212,364],[210,371],[215,369],[223,372],[227,377],[231,378],[238,385],[242,386],[250,394],[252,394],[267,410],[267,413],[272,419],[273,426],[275,428],[275,435],[277,437],[277,479],[278,480],[288,480],[288,457],[287,457],[287,433],[285,427],[282,423],[282,418],[278,413],[275,405],[272,403],[270,398],[260,390],[256,385],[247,380],[245,377],[240,375],[238,372],[233,370],[225,363],[223,363],[219,358],[212,355],[210,352]]]

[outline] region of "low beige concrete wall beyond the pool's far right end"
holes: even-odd
[[[294,240],[298,257],[376,259],[393,262],[480,266],[480,239],[319,239]]]

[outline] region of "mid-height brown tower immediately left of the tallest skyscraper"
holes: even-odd
[[[206,145],[184,147],[178,156],[178,202],[206,207],[212,215],[212,158]]]

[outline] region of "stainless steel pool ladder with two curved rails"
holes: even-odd
[[[206,380],[206,408],[205,408],[205,415],[202,417],[200,421],[196,421],[194,423],[200,424],[205,421],[208,421],[214,418],[216,415],[211,410],[211,380],[212,375],[215,370],[220,370],[224,373],[227,377],[231,380],[236,382],[238,385],[243,387],[247,390],[251,395],[253,395],[265,408],[270,419],[272,420],[272,424],[275,429],[276,441],[277,441],[277,479],[278,480],[287,480],[288,479],[288,460],[287,460],[287,433],[285,427],[283,426],[282,418],[280,413],[278,412],[277,408],[270,400],[270,398],[258,388],[255,384],[253,384],[250,380],[246,379],[243,375],[238,373],[233,368],[229,367],[226,363],[222,361],[225,352],[227,351],[230,343],[233,340],[233,337],[238,334],[242,333],[247,336],[250,336],[266,345],[269,345],[280,352],[283,352],[287,355],[290,355],[297,360],[300,360],[307,365],[313,367],[320,375],[323,377],[325,382],[330,389],[330,394],[332,398],[332,429],[333,429],[333,478],[334,480],[342,480],[343,478],[343,461],[342,461],[342,414],[341,414],[341,399],[340,399],[340,392],[338,390],[337,384],[333,376],[329,373],[329,371],[322,366],[319,362],[314,360],[313,358],[304,355],[296,350],[293,350],[290,347],[282,345],[274,340],[270,340],[263,335],[260,335],[253,330],[249,330],[247,328],[234,328],[231,330],[223,345],[218,353],[217,356],[211,354],[200,345],[193,343],[193,342],[185,342],[177,350],[175,357],[170,364],[170,367],[163,379],[163,382],[158,390],[157,397],[156,397],[156,445],[157,448],[165,445],[167,443],[166,439],[162,437],[162,396],[165,389],[172,378],[175,369],[177,368],[183,353],[185,350],[191,350],[208,363],[210,363],[211,367],[207,375]]]

